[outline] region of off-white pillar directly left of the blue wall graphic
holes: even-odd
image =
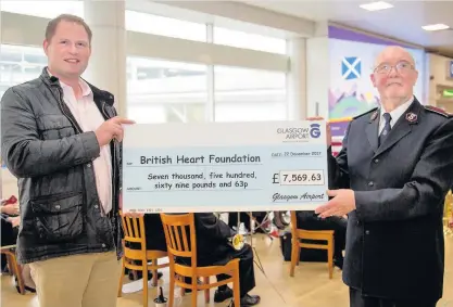
[[[330,56],[328,24],[316,24],[306,39],[306,114],[329,118]]]

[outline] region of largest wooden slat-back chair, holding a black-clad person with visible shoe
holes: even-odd
[[[197,293],[204,290],[205,303],[210,300],[210,289],[232,282],[235,306],[240,307],[239,293],[239,259],[232,259],[225,266],[197,267],[197,236],[193,214],[168,215],[161,214],[165,231],[169,258],[169,299],[168,307],[173,307],[175,284],[192,291],[192,307],[197,306]],[[187,233],[189,232],[189,233]],[[202,242],[200,244],[203,244]],[[190,258],[190,266],[177,264],[175,257]],[[229,279],[221,282],[210,283],[211,276],[228,274]],[[179,277],[176,279],[176,274]],[[191,284],[185,282],[184,278],[191,278]],[[197,282],[203,278],[203,283]]]

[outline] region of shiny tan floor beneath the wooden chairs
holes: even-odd
[[[348,287],[341,281],[341,271],[335,270],[334,279],[328,279],[326,264],[301,263],[295,269],[295,276],[289,277],[289,263],[285,263],[279,250],[279,241],[273,242],[263,235],[255,235],[255,250],[263,264],[265,274],[255,269],[256,287],[253,294],[262,297],[262,307],[348,307]],[[446,238],[446,268],[444,278],[444,297],[439,307],[453,307],[453,236]],[[417,268],[414,268],[416,270]],[[161,284],[168,289],[168,274],[164,270]],[[13,286],[11,277],[1,277],[1,306],[5,307],[38,307],[34,294],[18,295]],[[127,281],[126,281],[127,282]],[[155,289],[149,292],[149,306],[154,307]],[[212,292],[211,297],[213,298]],[[213,299],[211,299],[212,302]],[[138,307],[141,305],[141,292],[124,294],[118,298],[118,307]],[[199,294],[198,306],[205,306],[202,293]],[[226,306],[213,304],[209,306]],[[190,306],[190,294],[183,299],[177,298],[175,306]]]

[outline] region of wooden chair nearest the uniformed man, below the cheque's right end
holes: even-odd
[[[291,212],[291,268],[290,277],[294,277],[295,265],[299,265],[301,248],[315,248],[327,251],[327,265],[329,268],[329,279],[334,274],[334,230],[304,230],[298,229],[298,218],[295,212]],[[302,240],[326,241],[320,243],[302,243]]]

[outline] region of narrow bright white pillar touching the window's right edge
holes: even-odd
[[[293,38],[288,41],[291,57],[288,74],[288,119],[300,120],[306,117],[306,53],[305,39]]]

